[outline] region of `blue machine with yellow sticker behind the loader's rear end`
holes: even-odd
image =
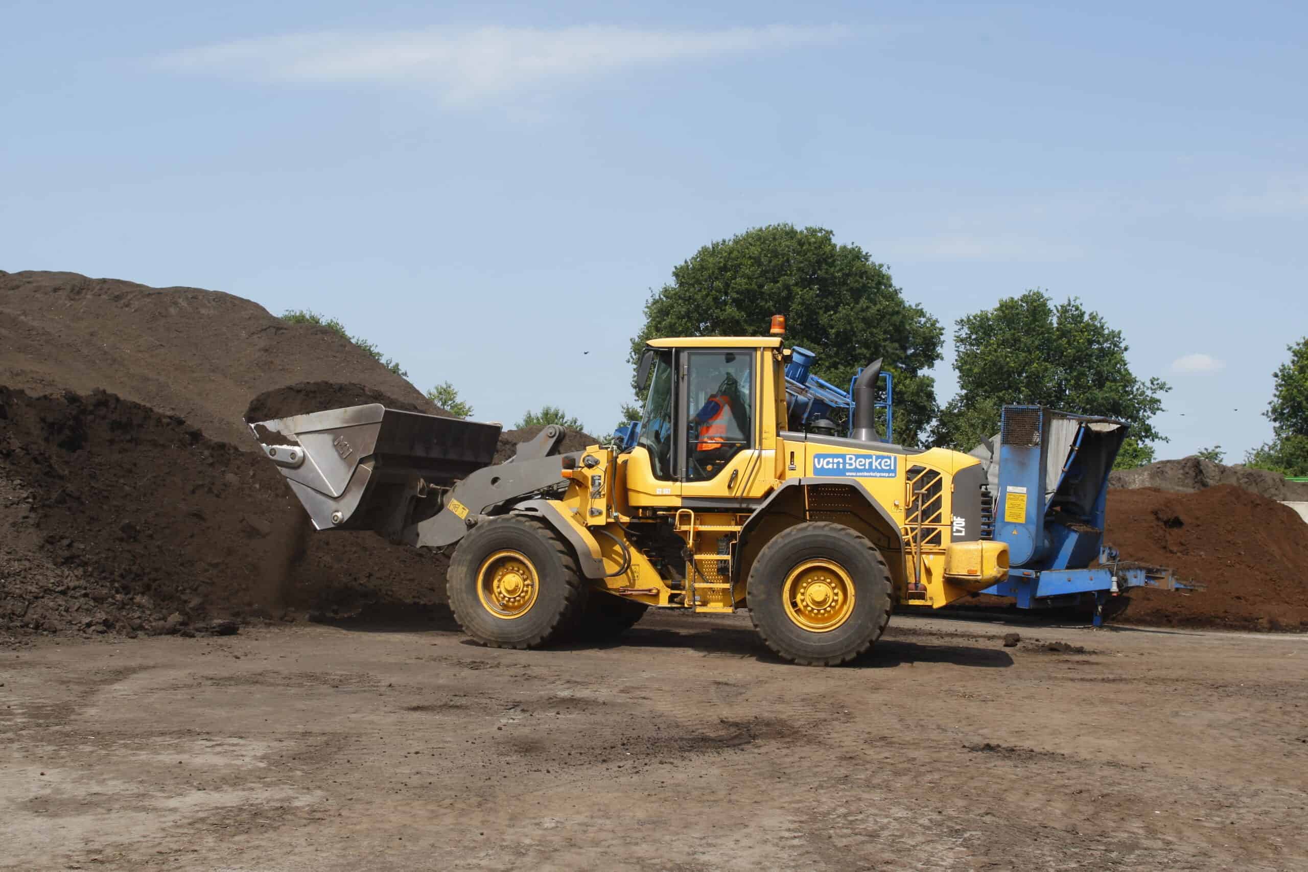
[[[1125,438],[1122,421],[1003,407],[998,444],[972,452],[988,471],[982,536],[1008,543],[1011,565],[1008,579],[984,594],[1012,596],[1024,609],[1092,597],[1099,626],[1104,607],[1130,587],[1190,587],[1171,570],[1122,562],[1104,545],[1108,473]]]

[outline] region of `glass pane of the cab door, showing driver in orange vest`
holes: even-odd
[[[753,354],[689,352],[685,480],[706,481],[753,444]]]

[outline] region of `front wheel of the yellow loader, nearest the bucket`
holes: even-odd
[[[568,544],[547,524],[504,515],[472,528],[446,575],[463,631],[497,648],[535,648],[568,629],[586,587]]]

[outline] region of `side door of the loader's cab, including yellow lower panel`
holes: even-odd
[[[684,349],[678,354],[679,482],[681,505],[723,507],[755,498],[770,482],[761,439],[760,349]],[[769,452],[770,454],[770,452]],[[702,502],[701,502],[702,501]]]

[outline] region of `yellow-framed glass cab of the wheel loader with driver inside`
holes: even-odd
[[[776,352],[773,350],[776,349]],[[691,499],[740,498],[756,490],[765,433],[774,434],[770,404],[780,339],[696,337],[654,340],[637,383],[647,384],[637,450],[649,460],[657,495]],[[768,456],[770,459],[772,451]],[[641,480],[644,458],[633,458]]]

